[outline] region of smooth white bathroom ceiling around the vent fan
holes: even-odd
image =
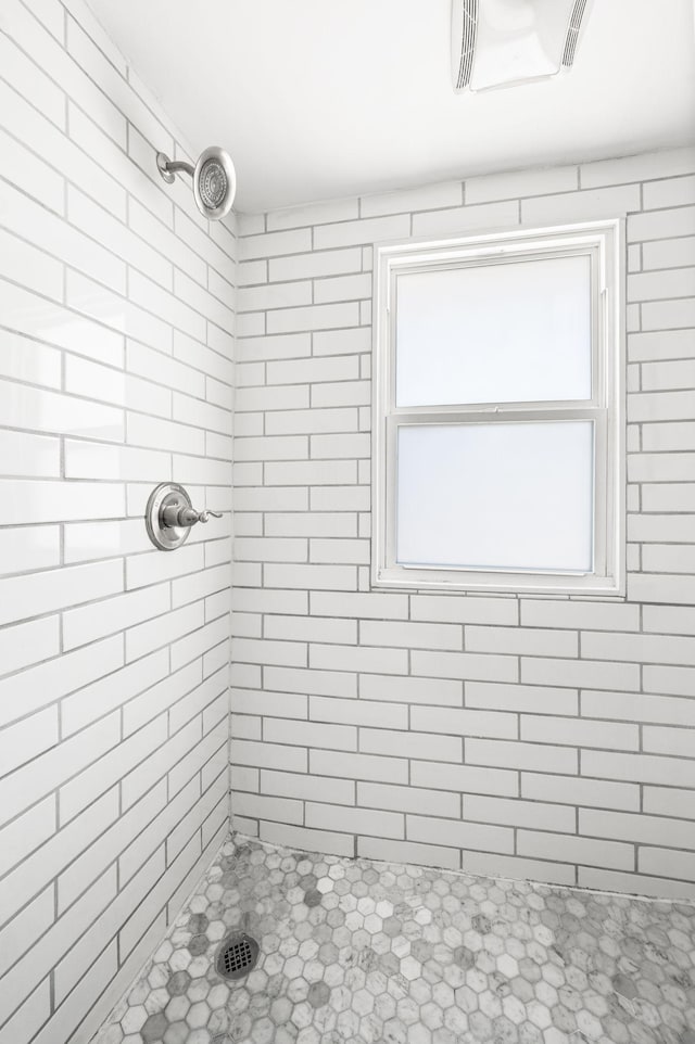
[[[595,0],[569,75],[454,94],[451,0],[89,0],[240,211],[695,140],[693,0]]]

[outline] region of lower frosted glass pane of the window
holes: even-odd
[[[593,424],[399,429],[396,561],[592,570]]]

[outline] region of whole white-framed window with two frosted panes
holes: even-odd
[[[622,237],[377,247],[377,586],[623,593]]]

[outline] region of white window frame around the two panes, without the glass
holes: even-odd
[[[592,287],[592,396],[586,400],[395,405],[396,281],[401,273],[496,260],[589,255]],[[375,244],[371,583],[375,587],[623,596],[624,549],[624,220],[517,228],[485,235]],[[403,565],[395,558],[397,429],[405,424],[594,422],[594,532],[591,573],[504,572]]]

